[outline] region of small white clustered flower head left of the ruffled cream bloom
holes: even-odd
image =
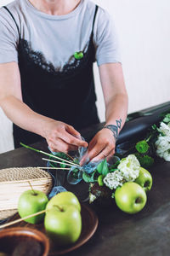
[[[123,177],[122,173],[116,170],[115,172],[109,172],[104,178],[104,183],[110,189],[116,189],[119,186],[122,186]]]

